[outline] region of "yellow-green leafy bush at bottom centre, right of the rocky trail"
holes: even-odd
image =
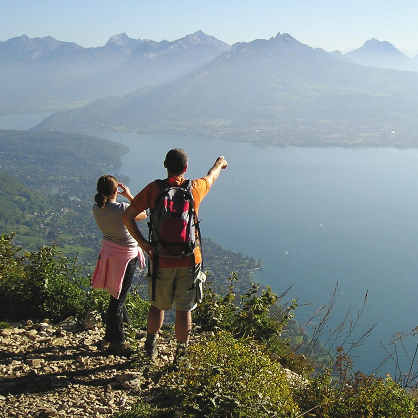
[[[193,344],[188,361],[162,377],[155,406],[173,417],[291,417],[298,406],[280,363],[228,332]]]

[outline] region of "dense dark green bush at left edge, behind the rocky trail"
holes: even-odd
[[[89,280],[54,247],[19,255],[12,236],[0,237],[0,317],[59,320],[88,308]]]

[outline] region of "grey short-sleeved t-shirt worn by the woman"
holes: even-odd
[[[138,242],[132,237],[122,222],[122,214],[129,203],[107,202],[104,207],[93,206],[97,226],[103,232],[103,238],[124,247],[136,247]]]

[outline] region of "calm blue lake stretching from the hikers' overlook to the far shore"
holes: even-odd
[[[0,117],[0,127],[2,127]],[[10,116],[9,116],[10,118]],[[10,120],[9,120],[10,123]],[[218,155],[229,166],[201,204],[206,237],[261,258],[257,281],[276,293],[291,287],[306,321],[339,283],[331,324],[368,291],[358,333],[377,323],[354,355],[371,372],[393,334],[417,326],[418,150],[394,148],[257,148],[245,143],[175,135],[101,133],[130,147],[117,173],[135,194],[163,178],[168,149],[189,153],[188,176],[204,176]],[[309,327],[307,328],[309,330]],[[414,340],[406,340],[413,354]],[[406,356],[401,355],[404,369]],[[393,372],[387,363],[382,371]]]

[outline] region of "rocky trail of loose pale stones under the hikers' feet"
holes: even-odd
[[[99,316],[84,324],[27,321],[0,330],[0,417],[113,417],[130,410],[156,384],[138,355],[109,355]],[[160,336],[155,366],[173,360],[175,347]]]

